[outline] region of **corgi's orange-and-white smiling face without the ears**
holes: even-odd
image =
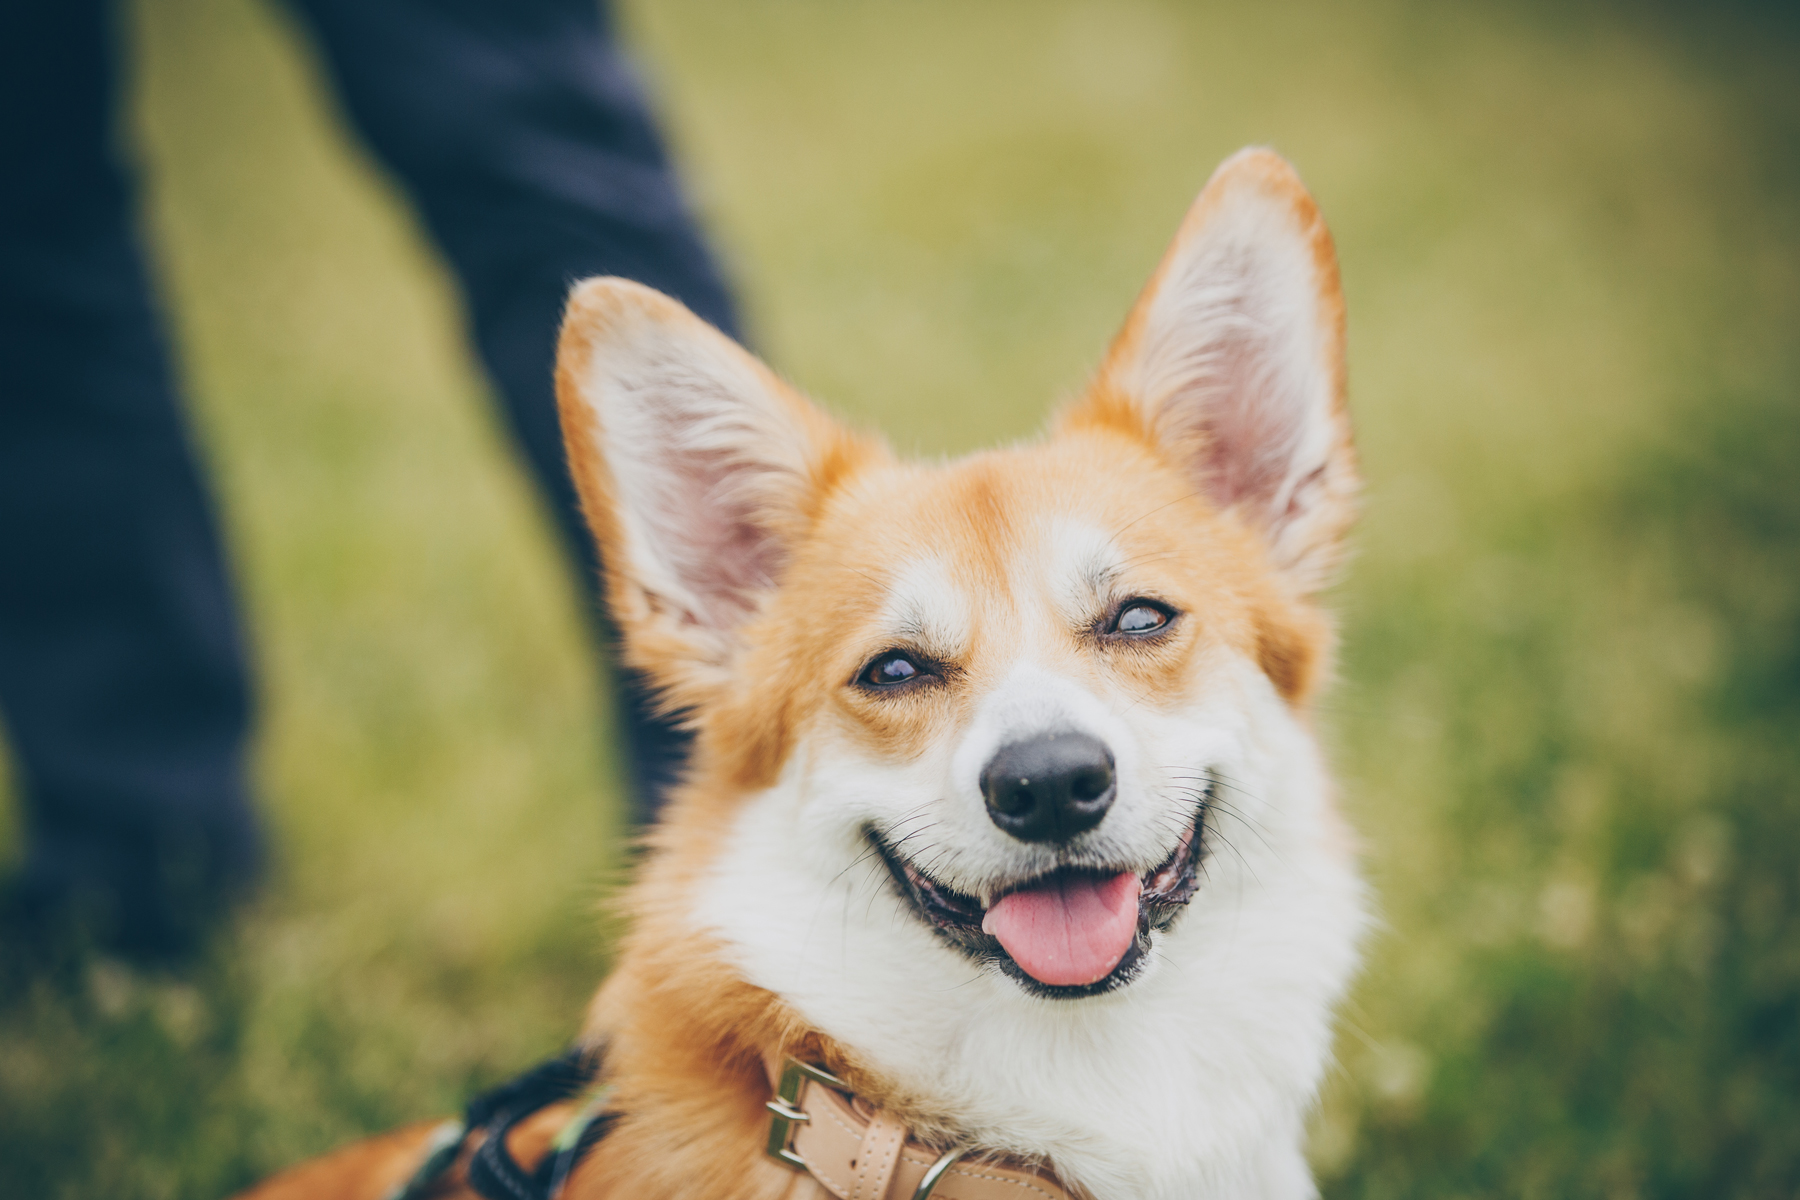
[[[821,865],[873,851],[913,919],[1030,993],[1130,982],[1235,799],[1238,680],[1294,687],[1312,653],[1193,493],[1100,432],[844,486],[733,673],[783,714],[769,757]]]

